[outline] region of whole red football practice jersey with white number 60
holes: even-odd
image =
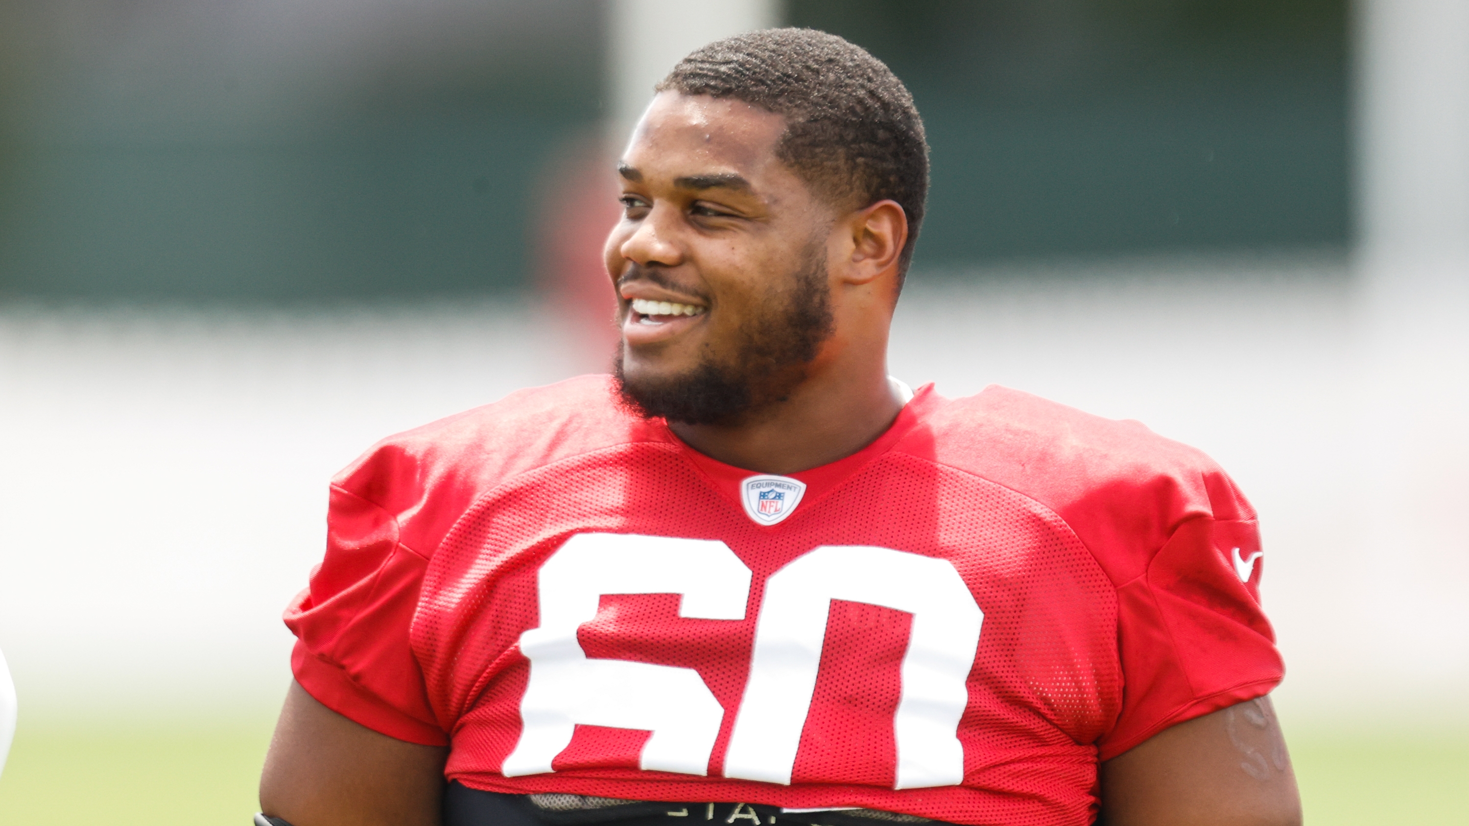
[[[486,791],[1090,823],[1097,761],[1281,679],[1255,512],[1137,423],[921,389],[776,477],[583,377],[332,486],[297,681]]]

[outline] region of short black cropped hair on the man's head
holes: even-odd
[[[717,40],[679,62],[657,91],[742,100],[786,117],[776,154],[831,202],[892,198],[908,214],[899,283],[928,197],[928,142],[908,88],[865,48],[815,29]]]

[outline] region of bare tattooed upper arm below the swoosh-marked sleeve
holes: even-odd
[[[1299,826],[1269,697],[1178,723],[1102,763],[1106,826]]]

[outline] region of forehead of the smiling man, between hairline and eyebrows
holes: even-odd
[[[783,116],[745,101],[667,91],[638,122],[623,161],[643,175],[724,170],[751,178],[783,167],[776,144],[784,131]]]

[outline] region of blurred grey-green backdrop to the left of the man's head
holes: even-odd
[[[599,120],[599,15],[596,0],[0,4],[0,296],[519,289],[535,180]]]

